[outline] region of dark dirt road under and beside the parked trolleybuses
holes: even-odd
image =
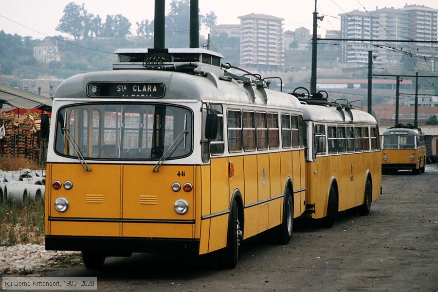
[[[288,245],[244,243],[234,270],[210,257],[108,258],[44,276],[97,276],[98,291],[438,291],[438,165],[383,175],[368,216],[340,213],[330,229],[296,221]]]

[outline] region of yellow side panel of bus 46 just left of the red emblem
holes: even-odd
[[[228,158],[211,159],[211,214],[229,210]],[[213,223],[213,220],[212,220]],[[226,230],[227,228],[225,228]]]

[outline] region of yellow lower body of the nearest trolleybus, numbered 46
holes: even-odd
[[[243,200],[244,238],[279,225],[288,178],[293,184],[294,217],[305,211],[304,151],[212,158],[209,165],[47,164],[46,235],[198,239],[199,253],[226,246],[233,194]],[[234,175],[229,176],[229,165]],[[181,174],[184,175],[181,175]],[[180,174],[180,175],[178,175]],[[54,181],[73,188],[55,190]],[[173,183],[191,183],[174,192]],[[66,198],[66,212],[55,209]],[[189,209],[174,210],[183,199]]]

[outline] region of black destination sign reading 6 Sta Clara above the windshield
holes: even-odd
[[[165,86],[161,82],[95,82],[89,83],[90,97],[152,97],[164,96]]]

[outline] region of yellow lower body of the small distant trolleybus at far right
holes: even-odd
[[[384,160],[384,157],[387,160]],[[410,160],[413,157],[413,160]],[[382,149],[382,168],[399,170],[413,169],[420,170],[426,165],[426,147],[420,146],[417,149]]]

